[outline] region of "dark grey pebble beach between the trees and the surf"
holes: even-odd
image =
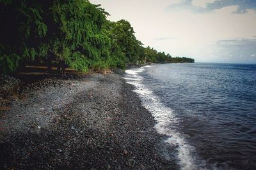
[[[121,71],[122,72],[122,71]],[[0,111],[0,165],[17,169],[178,169],[166,136],[122,73],[45,78]]]

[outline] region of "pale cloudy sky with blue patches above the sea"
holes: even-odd
[[[91,0],[173,57],[256,64],[256,0]]]

